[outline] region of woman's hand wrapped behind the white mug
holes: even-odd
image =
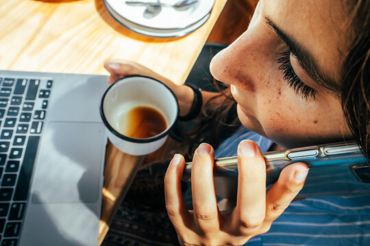
[[[177,101],[179,102],[180,115],[186,115],[190,110],[191,103],[194,100],[194,92],[188,86],[176,85],[169,79],[160,76],[160,74],[157,74],[153,70],[150,70],[135,61],[108,59],[104,61],[104,68],[110,72],[110,76],[108,77],[109,83],[114,83],[114,81],[128,75],[140,75],[157,79],[167,85],[175,94]]]

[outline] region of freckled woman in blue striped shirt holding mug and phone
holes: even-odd
[[[212,59],[210,70],[215,79],[230,84],[240,122],[271,139],[275,148],[356,139],[369,158],[369,33],[370,1],[260,1],[247,31]],[[174,85],[130,61],[106,61],[106,68],[110,82],[128,74],[155,77],[175,92],[180,115],[190,110],[190,87]],[[212,96],[203,92],[204,102]],[[307,199],[288,207],[304,185],[307,165],[286,167],[266,193],[260,148],[243,140],[236,154],[238,197],[229,215],[219,212],[214,194],[212,146],[202,143],[193,156],[193,211],[182,198],[184,157],[173,157],[164,185],[180,243],[369,245],[370,196]],[[344,219],[341,213],[347,213]],[[286,222],[291,227],[282,232],[286,215],[295,215],[295,221]],[[297,229],[304,223],[304,229]],[[330,226],[338,231],[328,231]],[[292,230],[312,231],[289,234]]]

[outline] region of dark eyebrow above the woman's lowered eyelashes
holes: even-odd
[[[288,46],[288,49],[291,51],[291,53],[297,57],[299,65],[307,72],[308,76],[310,76],[318,85],[321,85],[322,87],[334,92],[334,94],[341,92],[338,84],[332,79],[328,78],[328,76],[322,72],[319,66],[317,66],[317,64],[314,62],[312,55],[310,55],[310,53],[306,51],[304,47],[295,42],[293,38],[290,38],[288,35],[286,35],[275,25],[275,23],[273,23],[269,17],[264,16],[264,19],[276,33],[277,37],[280,38],[286,44],[286,46]]]

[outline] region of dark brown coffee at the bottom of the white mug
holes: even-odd
[[[153,137],[167,128],[167,122],[162,113],[152,107],[134,107],[125,115],[123,135],[134,138]]]

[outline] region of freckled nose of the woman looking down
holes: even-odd
[[[213,57],[210,72],[218,81],[254,90],[256,82],[271,70],[272,44],[271,30],[264,27],[261,18],[256,18],[254,25]]]

